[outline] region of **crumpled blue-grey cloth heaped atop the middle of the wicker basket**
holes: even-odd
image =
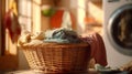
[[[45,32],[45,42],[57,42],[57,43],[80,43],[82,42],[79,35],[70,29],[55,29]]]

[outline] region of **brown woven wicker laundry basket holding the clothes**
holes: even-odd
[[[73,73],[87,71],[89,45],[42,43],[22,46],[29,65],[44,73]]]

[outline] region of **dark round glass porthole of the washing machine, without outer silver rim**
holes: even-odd
[[[118,10],[111,19],[112,40],[122,49],[132,50],[132,6]]]

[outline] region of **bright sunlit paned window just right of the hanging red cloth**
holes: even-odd
[[[22,30],[41,30],[41,0],[19,0],[19,19]]]

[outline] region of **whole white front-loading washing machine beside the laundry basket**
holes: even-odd
[[[103,0],[103,40],[108,65],[132,61],[132,0]]]

